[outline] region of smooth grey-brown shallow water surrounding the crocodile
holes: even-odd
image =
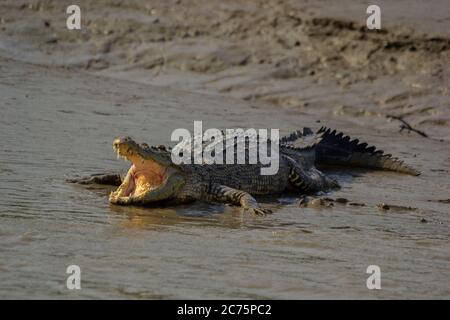
[[[274,211],[264,218],[218,204],[117,207],[108,190],[65,182],[126,170],[111,148],[116,136],[168,143],[194,119],[283,132],[319,124],[12,60],[2,59],[0,71],[1,298],[450,297],[449,207],[429,201],[449,196],[445,144],[330,119],[423,171],[334,172],[343,188],[328,196],[364,207],[299,208],[297,198],[275,197],[262,199]],[[383,212],[379,202],[416,210]],[[81,290],[66,289],[71,264],[81,267]],[[379,291],[366,288],[369,265],[381,268]]]

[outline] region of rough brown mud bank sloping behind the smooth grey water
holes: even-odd
[[[70,31],[60,1],[3,1],[0,50],[392,132],[394,115],[450,139],[445,1],[381,2],[380,31],[349,3],[79,1],[83,27]]]

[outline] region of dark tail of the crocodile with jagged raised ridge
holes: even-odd
[[[376,150],[374,146],[351,140],[342,132],[322,127],[317,131],[320,137],[316,145],[316,163],[344,165],[397,171],[418,176],[420,172],[409,167],[403,161]]]

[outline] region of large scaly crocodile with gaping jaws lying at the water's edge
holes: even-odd
[[[274,175],[261,175],[263,165],[260,162],[248,164],[250,143],[245,147],[246,164],[174,164],[171,147],[139,144],[130,137],[117,138],[113,141],[114,151],[118,157],[132,163],[125,176],[97,174],[70,182],[118,186],[109,196],[110,203],[115,205],[204,200],[237,205],[246,212],[265,215],[271,211],[261,207],[254,196],[284,192],[308,194],[339,188],[338,182],[316,165],[420,174],[398,158],[326,127],[316,132],[303,128],[279,141],[268,142],[269,147],[274,143],[279,147],[279,170]],[[231,147],[232,150],[224,148],[224,154],[234,152],[236,156],[236,148],[233,144]]]

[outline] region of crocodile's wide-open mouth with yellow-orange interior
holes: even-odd
[[[126,139],[116,139],[113,149],[117,158],[132,163],[127,177],[113,193],[116,197],[139,196],[159,187],[165,180],[167,169],[151,158],[144,158],[139,146]]]

